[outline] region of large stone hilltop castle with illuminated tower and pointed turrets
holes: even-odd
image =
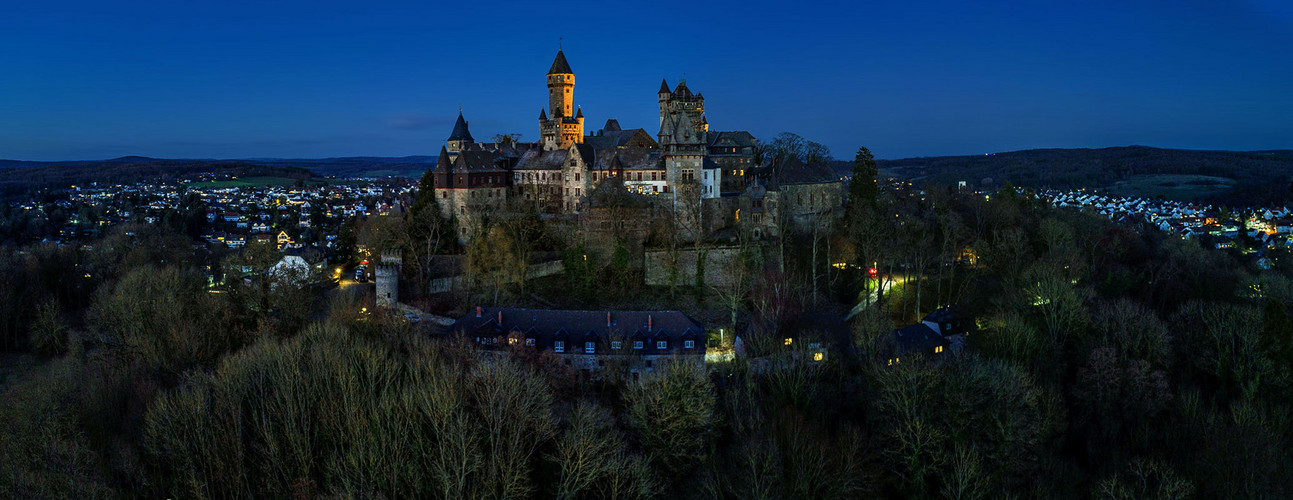
[[[679,226],[698,238],[724,230],[776,236],[782,216],[813,217],[842,203],[840,180],[829,167],[762,165],[749,132],[710,130],[705,96],[685,80],[672,89],[661,80],[659,128],[652,137],[641,128],[622,129],[615,119],[584,134],[564,52],[557,50],[546,76],[548,105],[539,110],[538,142],[477,142],[459,112],[436,161],[434,196],[442,214],[458,220],[460,240],[508,205],[584,214],[592,191],[606,181],[670,208]]]

